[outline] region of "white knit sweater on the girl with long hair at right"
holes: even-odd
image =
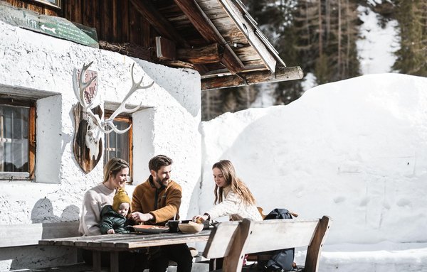
[[[233,221],[243,218],[263,220],[256,205],[247,205],[236,192],[231,190],[230,186],[223,188],[223,202],[218,203],[206,213],[211,219],[228,215]]]

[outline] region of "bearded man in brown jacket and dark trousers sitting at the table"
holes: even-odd
[[[170,179],[172,159],[164,155],[152,158],[148,163],[149,178],[137,185],[132,194],[132,219],[144,224],[162,225],[174,218],[179,219],[181,186]],[[169,260],[175,261],[177,272],[190,272],[193,258],[186,244],[159,246],[149,249],[149,271],[164,272]]]

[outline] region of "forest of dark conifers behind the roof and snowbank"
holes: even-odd
[[[289,104],[301,97],[307,86],[363,75],[363,60],[357,49],[357,42],[365,38],[360,29],[363,13],[373,12],[380,28],[396,21],[394,64],[386,72],[427,76],[427,0],[242,2],[286,65],[302,67],[305,78],[204,91],[203,121],[228,111],[264,107],[259,103],[254,106],[254,102],[265,93],[270,96],[270,104]]]

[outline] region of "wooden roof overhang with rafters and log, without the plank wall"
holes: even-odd
[[[130,1],[162,36],[157,57],[194,67],[202,89],[302,78],[300,67],[286,67],[240,0]]]

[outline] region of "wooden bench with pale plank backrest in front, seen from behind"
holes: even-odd
[[[316,272],[330,217],[223,222],[212,230],[203,256],[223,257],[223,271],[240,272],[245,254],[307,246],[305,272]]]

